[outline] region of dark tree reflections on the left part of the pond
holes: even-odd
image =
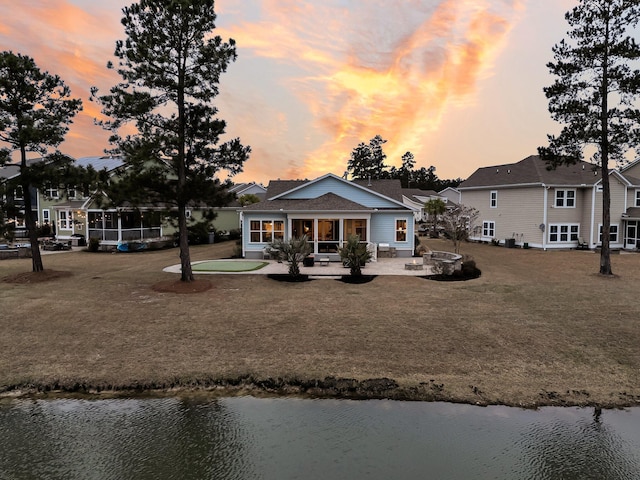
[[[0,480],[247,478],[244,434],[219,402],[24,401],[0,415]]]

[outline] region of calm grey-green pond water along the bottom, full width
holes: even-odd
[[[257,399],[0,403],[0,479],[638,479],[640,410]]]

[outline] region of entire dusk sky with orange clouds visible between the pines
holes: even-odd
[[[0,0],[0,50],[33,57],[83,100],[60,149],[101,155],[93,124],[131,0]],[[557,133],[543,87],[576,0],[218,0],[238,60],[215,103],[252,154],[235,181],[342,175],[379,134],[388,165],[414,154],[442,179],[517,162]]]

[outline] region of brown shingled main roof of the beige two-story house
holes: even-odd
[[[598,170],[589,162],[560,165],[549,169],[538,155],[531,155],[517,163],[483,167],[476,170],[458,187],[506,187],[515,185],[593,185],[600,179]]]

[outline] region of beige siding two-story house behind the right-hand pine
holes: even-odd
[[[640,176],[640,165],[637,170]],[[612,248],[636,248],[640,240],[639,185],[624,171],[610,173]],[[601,242],[602,182],[591,163],[548,170],[533,155],[480,168],[459,190],[461,203],[480,212],[472,240],[544,249],[574,248],[579,239],[590,248]]]

